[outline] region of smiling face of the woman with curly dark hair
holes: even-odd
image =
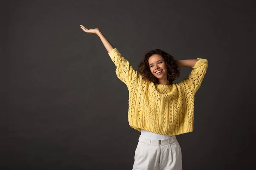
[[[154,54],[148,59],[151,73],[158,79],[167,79],[167,66],[165,60],[159,54]],[[162,70],[162,71],[161,71]],[[161,71],[157,73],[157,71]]]

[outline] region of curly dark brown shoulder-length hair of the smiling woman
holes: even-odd
[[[180,67],[178,67],[172,55],[166,53],[163,50],[155,49],[147,52],[145,54],[144,60],[139,64],[139,73],[143,76],[143,80],[148,80],[157,84],[158,79],[155,77],[149,68],[148,59],[154,54],[159,54],[164,58],[165,64],[167,66],[167,80],[169,80],[170,84],[180,76]]]

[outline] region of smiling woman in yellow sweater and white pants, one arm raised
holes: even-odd
[[[149,51],[137,72],[104,37],[98,28],[84,32],[97,34],[116,65],[117,77],[129,91],[129,125],[140,131],[133,170],[182,170],[180,144],[176,136],[192,132],[195,93],[208,68],[207,59],[174,60],[168,53]],[[186,79],[179,67],[192,67]]]

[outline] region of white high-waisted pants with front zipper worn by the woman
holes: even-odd
[[[182,170],[181,148],[176,136],[154,140],[140,135],[133,170]]]

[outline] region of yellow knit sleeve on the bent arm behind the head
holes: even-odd
[[[206,74],[208,68],[208,61],[207,59],[197,58],[198,61],[192,67],[192,71],[188,77],[183,79],[183,82],[192,89],[193,93],[195,94],[200,88],[201,83],[204,79],[204,75]]]

